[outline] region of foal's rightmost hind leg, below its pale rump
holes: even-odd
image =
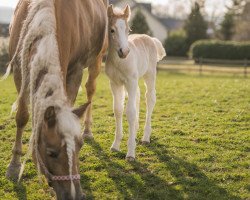
[[[144,77],[145,85],[146,85],[146,104],[147,104],[147,114],[146,114],[146,123],[144,127],[144,135],[142,138],[142,142],[144,144],[150,143],[150,135],[151,135],[151,117],[152,112],[156,103],[156,90],[155,90],[155,79],[156,72],[147,74]]]

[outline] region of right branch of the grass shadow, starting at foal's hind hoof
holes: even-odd
[[[230,195],[224,188],[210,180],[195,164],[171,155],[165,145],[153,143],[147,148],[154,152],[159,161],[164,163],[166,169],[175,177],[176,184],[180,185],[185,193],[185,199],[240,199]]]

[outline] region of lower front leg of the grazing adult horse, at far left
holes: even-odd
[[[12,149],[12,159],[6,172],[6,177],[17,180],[21,168],[22,134],[29,120],[29,112],[26,97],[20,97],[16,113],[16,140]]]

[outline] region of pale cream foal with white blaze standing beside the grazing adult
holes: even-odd
[[[156,65],[165,55],[161,42],[147,35],[130,35],[128,20],[130,8],[123,11],[108,8],[109,48],[106,62],[106,74],[110,79],[116,119],[115,140],[111,150],[119,151],[122,139],[122,114],[125,89],[128,92],[127,119],[129,123],[128,152],[126,158],[135,159],[136,132],[139,128],[140,90],[138,79],[144,78],[147,103],[147,115],[143,143],[150,142],[151,115],[156,102],[155,80]],[[125,89],[124,89],[125,87]]]

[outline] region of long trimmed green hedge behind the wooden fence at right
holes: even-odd
[[[190,47],[193,59],[250,60],[250,41],[232,42],[217,40],[200,40]]]

